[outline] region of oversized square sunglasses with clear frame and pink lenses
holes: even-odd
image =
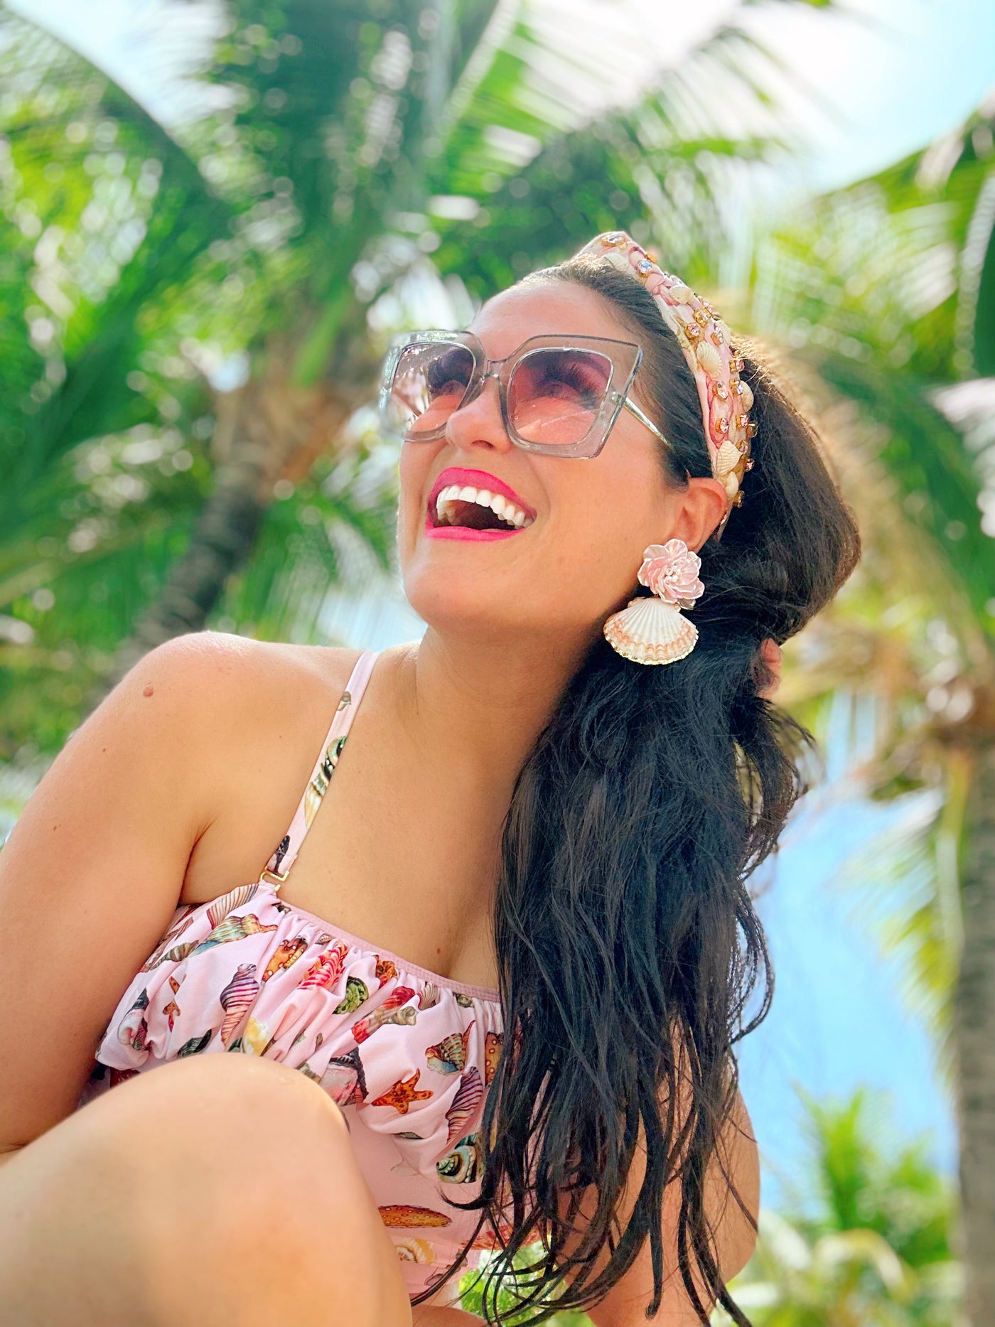
[[[533,336],[488,360],[472,332],[409,332],[383,365],[381,418],[406,441],[432,442],[496,378],[504,429],[527,451],[597,456],[622,407],[670,446],[629,398],[641,362],[638,345],[606,337]]]

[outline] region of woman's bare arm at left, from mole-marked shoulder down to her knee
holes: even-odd
[[[195,633],[141,660],[68,739],[0,852],[0,1164],[72,1113],[168,926],[228,787],[243,645]]]

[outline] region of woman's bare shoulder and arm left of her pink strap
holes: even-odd
[[[65,742],[0,853],[0,1039],[19,1084],[0,1092],[0,1151],[74,1108],[191,868],[206,897],[255,878],[354,657],[223,632],[176,637]]]

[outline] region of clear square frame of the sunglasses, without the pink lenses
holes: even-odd
[[[394,390],[394,380],[405,350],[415,345],[452,345],[462,346],[468,350],[472,356],[474,368],[470,374],[467,390],[463,394],[463,399],[456,406],[456,410],[460,410],[464,405],[474,401],[483,390],[488,378],[496,378],[498,397],[501,407],[501,422],[504,423],[504,429],[515,446],[521,447],[525,451],[539,451],[547,456],[577,456],[580,459],[589,460],[590,458],[597,456],[605,446],[608,435],[612,431],[622,406],[630,410],[637,419],[645,423],[661,442],[667,443],[667,439],[659,429],[657,429],[657,426],[646,418],[642,410],[639,410],[639,407],[629,399],[629,391],[635,381],[639,365],[642,364],[641,346],[631,341],[614,341],[609,337],[563,334],[528,337],[516,350],[512,350],[512,353],[505,356],[503,360],[488,360],[483,345],[472,332],[402,333],[391,342],[383,364],[383,373],[381,376],[378,401],[379,413],[385,427],[391,433],[397,433],[397,429],[391,423],[387,414],[390,397]],[[511,384],[511,377],[516,366],[536,350],[594,350],[601,353],[612,365],[598,413],[594,415],[586,434],[577,442],[531,442],[528,438],[523,438],[511,422],[508,415],[508,386]],[[435,442],[444,437],[444,434],[446,425],[440,425],[438,429],[429,429],[426,433],[419,433],[417,435],[405,433],[402,437],[409,442]]]

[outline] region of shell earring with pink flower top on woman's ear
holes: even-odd
[[[638,581],[653,596],[630,598],[628,608],[609,617],[604,632],[612,649],[633,664],[675,664],[690,654],[698,628],[681,609],[694,608],[694,601],[704,593],[698,579],[700,565],[700,557],[683,539],[649,544]]]

